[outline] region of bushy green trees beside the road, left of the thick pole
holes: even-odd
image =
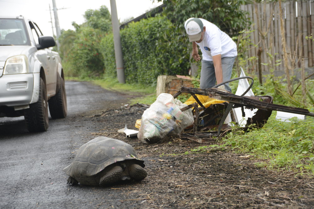
[[[106,6],[101,6],[99,10],[87,10],[84,18],[83,24],[72,22],[75,31],[62,31],[59,52],[62,60],[68,62],[71,75],[101,75],[104,63],[99,43],[111,31],[111,15]]]

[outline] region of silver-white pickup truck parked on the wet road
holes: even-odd
[[[0,117],[25,118],[30,132],[46,131],[51,118],[67,116],[61,59],[33,21],[0,16]]]

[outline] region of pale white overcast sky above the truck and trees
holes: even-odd
[[[109,11],[111,10],[110,0],[87,0],[85,3],[78,0],[55,1],[58,8],[60,28],[65,30],[74,30],[71,25],[73,21],[77,24],[82,24],[84,22],[83,15],[88,9],[95,10],[99,9],[101,5],[105,5]],[[120,22],[123,22],[123,20],[130,17],[138,17],[145,13],[146,10],[152,9],[160,4],[161,3],[157,3],[157,1],[152,3],[151,0],[116,0],[118,18],[120,19]],[[23,15],[36,22],[44,35],[52,36],[49,5],[51,7],[51,16],[53,19],[52,0],[0,0],[0,16]],[[54,19],[52,21],[54,24]]]

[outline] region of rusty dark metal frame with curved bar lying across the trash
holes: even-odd
[[[221,90],[216,88],[216,87],[223,85],[227,82],[231,82],[231,81],[235,81],[235,80],[239,80],[239,79],[251,79],[252,80],[251,85],[246,89],[246,91],[241,96],[234,95],[230,92],[221,91]],[[248,108],[248,109],[257,108],[258,109],[257,112],[255,112],[255,115],[252,118],[249,118],[247,120],[246,126],[243,128],[244,130],[247,130],[248,126],[250,124],[256,124],[255,126],[259,127],[259,128],[263,127],[263,125],[267,122],[267,120],[268,120],[268,118],[271,115],[273,110],[302,114],[302,115],[314,117],[314,113],[309,112],[307,109],[273,104],[273,98],[270,96],[262,96],[262,97],[243,96],[246,94],[247,91],[249,91],[249,89],[251,89],[252,85],[253,85],[253,79],[251,77],[244,76],[244,77],[239,77],[239,78],[232,79],[229,81],[225,81],[223,83],[220,83],[219,85],[214,86],[213,88],[208,88],[208,89],[189,88],[189,87],[181,86],[180,90],[179,91],[177,90],[178,92],[174,95],[174,98],[178,97],[183,92],[190,93],[192,95],[192,97],[194,97],[194,99],[198,103],[198,105],[200,106],[200,107],[194,106],[194,113],[197,113],[197,114],[195,114],[195,123],[194,123],[194,128],[193,128],[193,132],[195,132],[195,134],[198,131],[200,121],[202,121],[200,119],[201,117],[203,117],[203,119],[204,119],[204,116],[207,116],[207,118],[205,118],[206,120],[204,120],[205,123],[209,123],[210,120],[213,120],[213,118],[219,117],[220,122],[219,122],[219,126],[218,126],[218,131],[213,132],[211,134],[211,136],[215,136],[215,137],[218,136],[219,138],[222,136],[222,134],[220,134],[220,132],[222,130],[225,119],[227,118],[231,109],[236,108],[236,107],[241,107],[242,116],[244,115],[244,111],[243,111],[244,108]],[[215,108],[217,109],[217,107],[205,108],[203,106],[203,104],[198,100],[198,97],[196,95],[204,95],[204,96],[208,96],[208,97],[211,97],[214,99],[227,101],[229,103],[225,103],[224,107],[220,107],[223,110],[223,114],[219,115],[219,114],[216,114],[217,111],[215,112]],[[231,111],[231,113],[232,113],[232,111]],[[231,118],[232,118],[232,114],[231,114]],[[200,133],[202,133],[202,132],[198,132],[198,134],[200,134]],[[226,133],[226,131],[223,134],[225,134],[225,133]],[[191,136],[191,134],[192,133],[190,133],[190,136]],[[191,137],[190,137],[190,139],[191,139]],[[211,138],[209,138],[209,139],[211,139]]]

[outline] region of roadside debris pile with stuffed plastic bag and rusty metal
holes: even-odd
[[[273,110],[314,116],[307,109],[273,104],[273,97],[254,96],[251,90],[253,82],[248,85],[247,78],[250,77],[234,79],[244,80],[244,83],[239,81],[236,92],[241,96],[218,88],[186,86],[181,86],[174,96],[160,94],[156,102],[144,111],[141,123],[137,122],[138,138],[142,142],[158,143],[177,134],[199,143],[214,143],[231,131],[231,123],[237,123],[244,131],[249,127],[262,128]],[[181,93],[192,96],[182,104],[176,100]]]

